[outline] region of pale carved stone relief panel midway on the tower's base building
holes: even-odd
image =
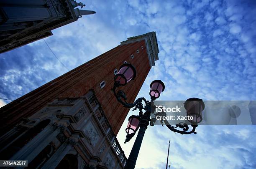
[[[100,136],[97,133],[95,127],[92,124],[92,122],[88,122],[86,128],[84,129],[84,133],[88,137],[88,139],[90,141],[90,144],[92,144],[92,146],[95,146],[97,144],[97,142],[99,141],[99,139],[100,139]]]

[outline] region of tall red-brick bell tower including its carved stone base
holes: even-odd
[[[158,60],[156,33],[128,38],[0,108],[0,157],[40,168],[123,168],[116,134],[128,114],[111,91],[123,63],[136,68],[125,91],[133,102]]]

